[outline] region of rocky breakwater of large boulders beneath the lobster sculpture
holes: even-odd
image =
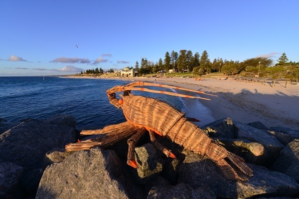
[[[66,116],[60,116],[61,119],[64,117]],[[209,159],[161,137],[157,137],[157,140],[171,149],[177,158],[166,158],[150,144],[149,136],[145,135],[135,149],[137,169],[126,164],[128,151],[126,139],[106,149],[65,152],[63,145],[75,140],[74,127],[63,125],[63,122],[59,123],[59,117],[47,121],[29,120],[0,135],[0,178],[3,179],[0,181],[0,198],[3,196],[8,198],[35,196],[36,199],[299,197],[298,131],[280,127],[267,128],[260,122],[243,124],[230,118],[202,127],[219,145],[243,157],[253,170],[254,176],[248,182],[239,182],[225,179],[215,163]],[[27,131],[35,129],[32,123],[36,123],[36,130],[25,138],[24,129]],[[22,126],[25,124],[28,127]],[[52,135],[45,130],[45,127],[40,128],[41,124],[56,133]],[[64,133],[58,131],[59,128],[64,129]],[[14,129],[19,129],[17,134],[23,136],[9,138]],[[58,141],[62,139],[61,137],[63,141]],[[92,137],[94,136],[82,139]],[[34,139],[35,142],[28,142],[26,139]],[[47,143],[52,141],[55,141],[55,144]],[[23,147],[18,151],[13,150],[12,146],[15,145]],[[36,152],[33,153],[34,150],[31,148]],[[4,149],[5,153],[2,152]],[[27,149],[31,150],[31,155],[25,155]],[[6,154],[8,151],[10,154]],[[25,157],[32,164],[21,161]]]

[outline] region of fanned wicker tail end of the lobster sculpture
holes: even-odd
[[[253,176],[253,171],[243,158],[213,142],[207,147],[205,155],[217,164],[221,173],[229,180],[248,181]]]

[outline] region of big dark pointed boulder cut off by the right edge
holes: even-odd
[[[299,139],[295,139],[281,150],[271,170],[284,173],[299,183]]]

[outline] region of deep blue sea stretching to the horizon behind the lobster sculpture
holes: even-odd
[[[43,80],[40,76],[0,77],[0,118],[9,122],[19,122],[27,118],[46,119],[55,114],[69,114],[76,118],[78,130],[102,129],[106,125],[125,121],[122,110],[109,103],[106,90],[130,82],[105,78],[46,76]],[[186,101],[181,98],[140,91],[134,94],[165,100],[186,112]],[[197,110],[206,109],[197,100],[190,103],[194,103],[191,106]],[[192,116],[191,114],[188,117]],[[207,120],[213,120],[210,116],[205,117],[208,117]]]

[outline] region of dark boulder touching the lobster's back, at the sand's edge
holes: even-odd
[[[216,120],[202,126],[201,129],[203,129],[209,137],[235,138],[234,124],[230,118]]]

